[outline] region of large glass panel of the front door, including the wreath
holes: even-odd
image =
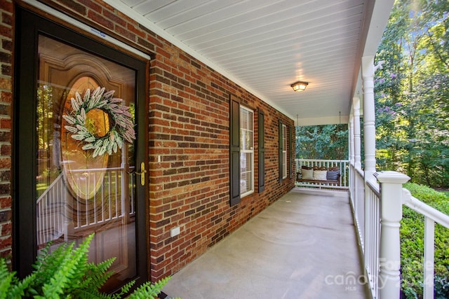
[[[111,291],[137,274],[135,70],[46,36],[38,51],[38,250],[95,232],[91,261],[116,258]]]

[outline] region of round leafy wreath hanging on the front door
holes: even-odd
[[[133,126],[133,116],[129,112],[129,107],[121,104],[123,99],[114,96],[115,90],[105,92],[105,88],[96,88],[92,94],[88,89],[81,98],[78,92],[75,98],[71,99],[72,111],[62,117],[69,125],[65,129],[72,132],[72,138],[83,141],[82,149],[84,151],[93,149],[93,158],[98,155],[112,155],[116,153],[117,148],[123,146],[124,141],[130,143],[135,139]],[[93,113],[106,113],[106,122],[108,128],[100,129],[93,118]]]

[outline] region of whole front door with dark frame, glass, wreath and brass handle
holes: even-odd
[[[146,63],[27,11],[18,32],[15,267],[95,232],[105,291],[145,281]]]

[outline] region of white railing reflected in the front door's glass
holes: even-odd
[[[105,172],[105,169],[88,169],[88,172]],[[128,188],[123,185],[123,175],[128,176]],[[36,200],[38,246],[60,237],[67,241],[77,230],[105,224],[124,216],[133,216],[133,186],[133,173],[126,173],[122,167],[109,168],[98,192],[92,198],[80,199],[70,194],[63,175],[60,174]],[[126,189],[131,190],[128,195],[125,193]]]

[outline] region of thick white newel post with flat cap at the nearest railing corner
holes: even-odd
[[[398,299],[401,291],[402,184],[410,177],[399,172],[379,172],[380,181],[380,273],[377,279],[380,299]]]

